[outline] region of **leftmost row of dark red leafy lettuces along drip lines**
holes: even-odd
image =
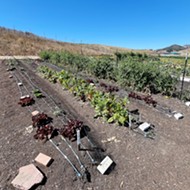
[[[14,68],[14,70],[15,69],[16,68]],[[10,76],[12,78],[12,75]],[[23,84],[18,83],[18,86],[20,86],[22,90]],[[32,93],[35,98],[31,97],[30,95],[21,96],[18,104],[22,107],[32,106],[33,104],[38,104],[37,99],[45,98],[45,96],[39,89],[34,89]],[[53,115],[59,116],[60,111],[61,110],[58,109],[55,110],[53,112]],[[48,140],[59,134],[62,137],[68,138],[71,141],[76,140],[76,130],[81,130],[83,128],[83,122],[77,119],[68,119],[61,128],[54,128],[53,125],[51,125],[51,123],[53,122],[53,118],[49,117],[47,114],[34,111],[32,112],[32,115],[32,126],[37,129],[34,138],[38,140]]]

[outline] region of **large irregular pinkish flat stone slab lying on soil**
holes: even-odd
[[[11,184],[21,190],[31,189],[34,185],[43,181],[43,174],[36,168],[34,164],[23,166],[19,169],[18,175]]]

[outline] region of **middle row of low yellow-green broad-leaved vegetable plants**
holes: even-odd
[[[65,70],[57,72],[47,66],[41,66],[38,71],[50,82],[59,82],[64,89],[69,90],[82,101],[89,101],[95,109],[95,118],[102,117],[108,123],[128,125],[128,98],[118,99],[110,92],[98,90],[93,81],[78,78]],[[106,88],[113,89],[111,86]]]

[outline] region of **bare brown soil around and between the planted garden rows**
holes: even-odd
[[[5,62],[0,62],[0,189],[15,189],[11,181],[24,165],[34,163],[46,176],[44,184],[37,190],[189,190],[190,189],[190,108],[177,99],[155,95],[159,105],[172,111],[184,114],[184,118],[176,120],[164,112],[147,106],[139,101],[131,100],[129,109],[138,108],[143,121],[155,125],[155,139],[144,138],[130,131],[127,127],[108,125],[102,119],[94,119],[94,111],[88,103],[80,102],[70,92],[64,91],[59,84],[52,84],[35,73],[35,63],[22,65],[32,81],[55,102],[64,108],[68,116],[84,121],[90,128],[89,136],[99,147],[92,156],[101,161],[109,155],[115,167],[109,174],[102,175],[93,166],[85,152],[78,151],[81,161],[91,174],[91,182],[84,183],[76,178],[73,169],[50,142],[40,142],[33,138],[35,130],[27,133],[26,127],[31,125],[31,113],[26,107],[20,107],[17,83],[9,78]],[[26,87],[26,83],[23,82]],[[30,88],[29,88],[30,89]],[[53,118],[53,124],[60,127],[61,123],[42,100],[36,105]],[[31,110],[37,107],[31,106]],[[114,140],[110,140],[111,137]],[[71,150],[60,141],[60,148],[68,155],[76,167],[80,166]],[[86,139],[83,139],[87,144]],[[77,151],[76,142],[72,147]],[[102,151],[104,150],[104,152]],[[54,159],[49,167],[34,162],[39,152]]]

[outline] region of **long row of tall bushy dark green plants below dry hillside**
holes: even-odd
[[[121,86],[138,91],[172,95],[177,79],[169,68],[162,65],[159,58],[147,54],[116,52],[111,56],[92,57],[64,52],[41,53],[45,59],[58,65],[66,66],[68,70],[92,74],[97,78],[111,79]],[[42,58],[43,58],[42,57]],[[51,76],[48,72],[46,75]],[[52,77],[55,81],[56,77]]]

